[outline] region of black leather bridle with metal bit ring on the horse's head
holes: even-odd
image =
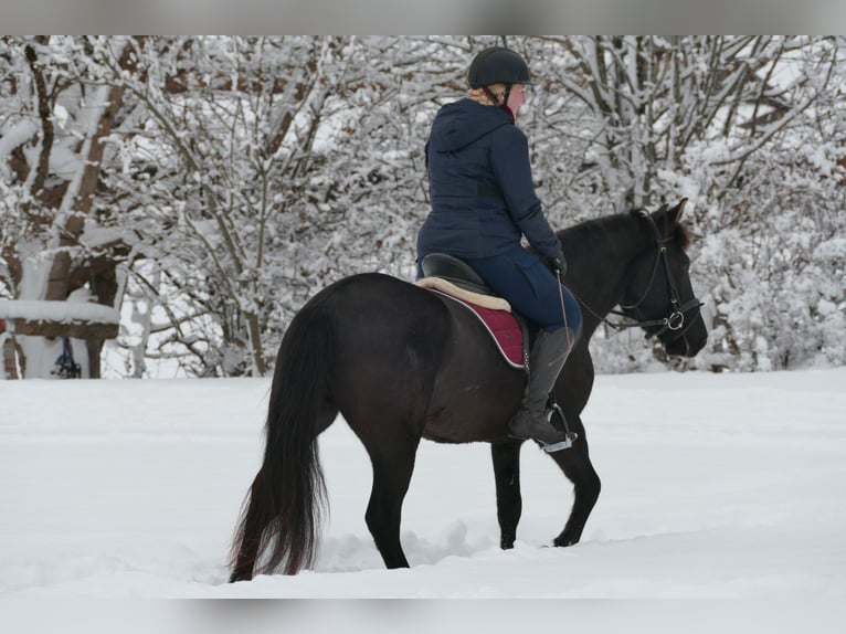
[[[600,319],[605,325],[610,326],[614,330],[623,330],[625,328],[647,328],[651,326],[658,326],[656,330],[653,330],[652,332],[646,334],[646,338],[649,339],[651,337],[658,337],[664,344],[670,344],[675,341],[676,339],[679,339],[687,334],[688,329],[696,323],[696,319],[690,319],[687,323],[687,326],[685,325],[686,318],[685,313],[689,310],[694,310],[696,308],[699,308],[700,306],[704,306],[705,304],[700,302],[696,296],[690,298],[688,302],[685,302],[681,304],[681,299],[678,294],[678,285],[676,284],[676,277],[673,275],[673,271],[669,267],[669,260],[667,258],[667,243],[671,242],[673,239],[664,239],[660,235],[660,232],[658,231],[658,226],[655,224],[655,220],[653,216],[645,210],[638,210],[636,212],[641,218],[646,219],[649,222],[649,228],[652,229],[653,235],[655,237],[655,245],[657,247],[657,253],[655,255],[655,263],[652,267],[652,274],[649,275],[649,282],[646,285],[646,289],[641,294],[641,298],[637,299],[637,302],[634,303],[627,303],[623,304],[620,303],[620,307],[624,310],[631,310],[633,308],[637,308],[644,299],[649,295],[649,292],[652,290],[653,285],[655,284],[655,278],[658,273],[658,268],[660,267],[662,263],[664,264],[664,272],[667,276],[667,292],[669,293],[669,302],[670,302],[670,314],[667,317],[663,317],[659,319],[647,319],[644,321],[625,321],[625,323],[617,323],[614,324],[612,321],[609,321],[605,317],[602,317],[600,315],[596,315],[588,305],[584,304],[584,302],[581,302],[581,304],[590,310],[594,317]],[[578,299],[578,297],[577,297]],[[625,313],[621,310],[612,310],[612,315],[616,315],[618,317],[625,317],[626,319],[632,319],[631,316],[626,315]],[[700,314],[697,314],[697,316],[701,316]],[[662,339],[662,336],[666,332],[673,332],[673,336],[669,338]]]

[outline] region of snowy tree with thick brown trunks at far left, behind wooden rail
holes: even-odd
[[[80,324],[75,330],[60,325],[82,315],[72,309],[77,304],[119,303],[116,266],[125,244],[87,229],[99,224],[101,172],[109,160],[108,138],[123,91],[101,82],[86,63],[92,45],[86,38],[57,36],[0,42],[0,56],[8,62],[0,93],[3,294],[67,303],[66,314],[52,326],[29,324],[20,331],[19,324],[28,376],[50,372],[53,338],[63,334],[84,339],[76,346],[81,361],[87,376],[97,377],[104,339],[114,337],[110,325]],[[126,41],[110,39],[108,45],[117,67],[131,74],[136,60],[127,54]]]

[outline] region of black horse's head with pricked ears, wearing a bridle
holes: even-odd
[[[708,330],[690,284],[690,239],[679,222],[686,203],[684,199],[673,209],[665,204],[652,214],[632,212],[645,224],[652,246],[635,260],[620,307],[647,337],[657,337],[668,355],[694,357],[705,347]]]

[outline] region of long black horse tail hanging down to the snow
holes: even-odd
[[[233,538],[231,582],[273,572],[279,564],[285,574],[295,574],[314,561],[326,503],[317,435],[337,415],[337,410],[327,410],[332,330],[330,316],[317,303],[305,306],[283,337],[271,388],[264,462]]]

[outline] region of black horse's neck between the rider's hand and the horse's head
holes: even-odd
[[[568,286],[588,307],[582,310],[582,337],[586,340],[623,299],[632,264],[652,247],[645,223],[620,214],[582,223],[561,234],[568,268]]]

